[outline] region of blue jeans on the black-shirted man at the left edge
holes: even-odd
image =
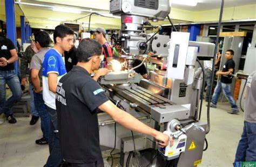
[[[6,83],[8,84],[12,92],[12,96],[7,100],[5,99]],[[21,83],[19,82],[17,74],[15,74],[15,70],[9,70],[9,71],[0,70],[0,114],[4,112],[5,115],[11,115],[12,111],[10,110],[10,108],[14,106],[16,101],[21,99],[21,97],[22,97]]]

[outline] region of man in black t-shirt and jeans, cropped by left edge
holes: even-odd
[[[17,60],[14,43],[8,38],[0,37],[0,115],[4,113],[10,124],[17,122],[10,108],[22,97],[19,78],[14,70],[14,62]],[[5,99],[6,83],[12,92],[12,96],[7,100]]]

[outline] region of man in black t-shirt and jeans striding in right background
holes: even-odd
[[[234,74],[234,67],[235,62],[233,60],[234,51],[231,49],[228,49],[226,51],[226,63],[223,66],[222,71],[217,71],[216,75],[220,75],[220,81],[218,81],[216,88],[214,89],[214,93],[211,100],[211,107],[216,108],[217,107],[217,101],[220,95],[221,90],[223,90],[223,93],[227,100],[230,102],[232,110],[228,113],[236,114],[239,112],[237,104],[235,104],[235,101],[231,95],[231,83],[232,83],[232,74]]]

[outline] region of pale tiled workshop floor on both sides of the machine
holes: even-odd
[[[206,120],[203,105],[202,119]],[[232,166],[234,154],[242,132],[243,114],[228,114],[227,103],[211,108],[211,131],[207,134],[208,150],[199,166]],[[42,137],[39,122],[29,125],[30,118],[17,118],[17,124],[0,125],[0,166],[43,166],[49,155],[48,145],[38,146],[35,140]]]

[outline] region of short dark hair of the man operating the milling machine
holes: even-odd
[[[89,57],[102,54],[102,45],[96,40],[85,38],[77,48],[77,61],[87,62]]]

